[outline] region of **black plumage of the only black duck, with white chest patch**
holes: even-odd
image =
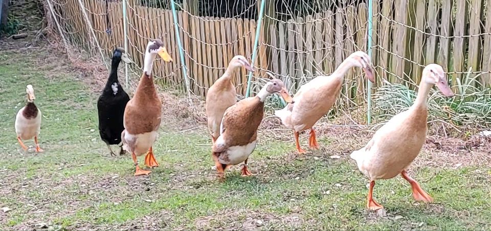
[[[121,143],[121,133],[124,130],[123,115],[129,96],[121,87],[118,80],[118,67],[121,62],[124,50],[118,48],[114,51],[113,61],[111,62],[111,72],[107,79],[106,86],[101,96],[97,100],[97,110],[99,113],[99,134],[102,141],[107,144],[111,155],[115,155],[110,145]],[[123,154],[121,145],[120,155]]]

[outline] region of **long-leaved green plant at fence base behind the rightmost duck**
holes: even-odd
[[[432,89],[428,98],[429,120],[444,120],[464,128],[491,128],[491,89],[482,87],[479,76],[468,74],[464,80],[457,78],[453,98]],[[407,110],[416,94],[400,83],[385,82],[374,94],[377,118],[384,121]]]

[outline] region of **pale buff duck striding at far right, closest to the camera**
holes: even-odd
[[[427,135],[427,99],[430,89],[436,85],[447,97],[454,96],[449,88],[443,68],[430,64],[423,69],[418,95],[413,105],[390,119],[373,135],[368,144],[351,153],[360,171],[370,180],[367,208],[383,208],[373,200],[375,180],[390,179],[400,174],[412,187],[417,201],[432,202],[419,184],[406,172],[407,167],[418,156]]]

